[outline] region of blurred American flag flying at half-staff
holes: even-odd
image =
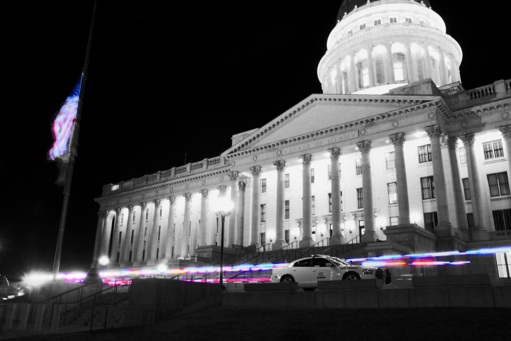
[[[57,117],[52,124],[53,132],[53,145],[48,151],[48,160],[55,160],[61,158],[62,161],[67,161],[69,139],[73,132],[73,125],[76,120],[76,113],[78,111],[78,97],[80,94],[80,81],[76,84],[73,92],[60,108]]]

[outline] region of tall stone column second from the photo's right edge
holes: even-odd
[[[459,137],[465,146],[465,155],[467,157],[467,170],[469,173],[470,202],[472,203],[472,214],[474,216],[474,230],[472,239],[474,241],[487,240],[488,229],[484,223],[483,199],[481,197],[481,188],[479,183],[479,173],[477,171],[476,154],[474,150],[475,134],[467,133]]]

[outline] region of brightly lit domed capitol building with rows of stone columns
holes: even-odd
[[[465,89],[462,58],[428,0],[344,0],[317,67],[322,94],[219,155],[103,186],[92,267],[213,257],[224,196],[232,253],[511,244],[511,80]]]

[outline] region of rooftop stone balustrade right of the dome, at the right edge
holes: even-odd
[[[511,80],[499,80],[490,85],[461,91],[444,98],[452,108],[456,109],[502,98],[506,95],[511,95]]]

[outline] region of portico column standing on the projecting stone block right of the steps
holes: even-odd
[[[408,201],[408,183],[406,181],[405,153],[403,151],[406,136],[404,132],[389,135],[394,145],[394,162],[396,163],[396,184],[398,188],[399,224],[410,224],[410,207]]]

